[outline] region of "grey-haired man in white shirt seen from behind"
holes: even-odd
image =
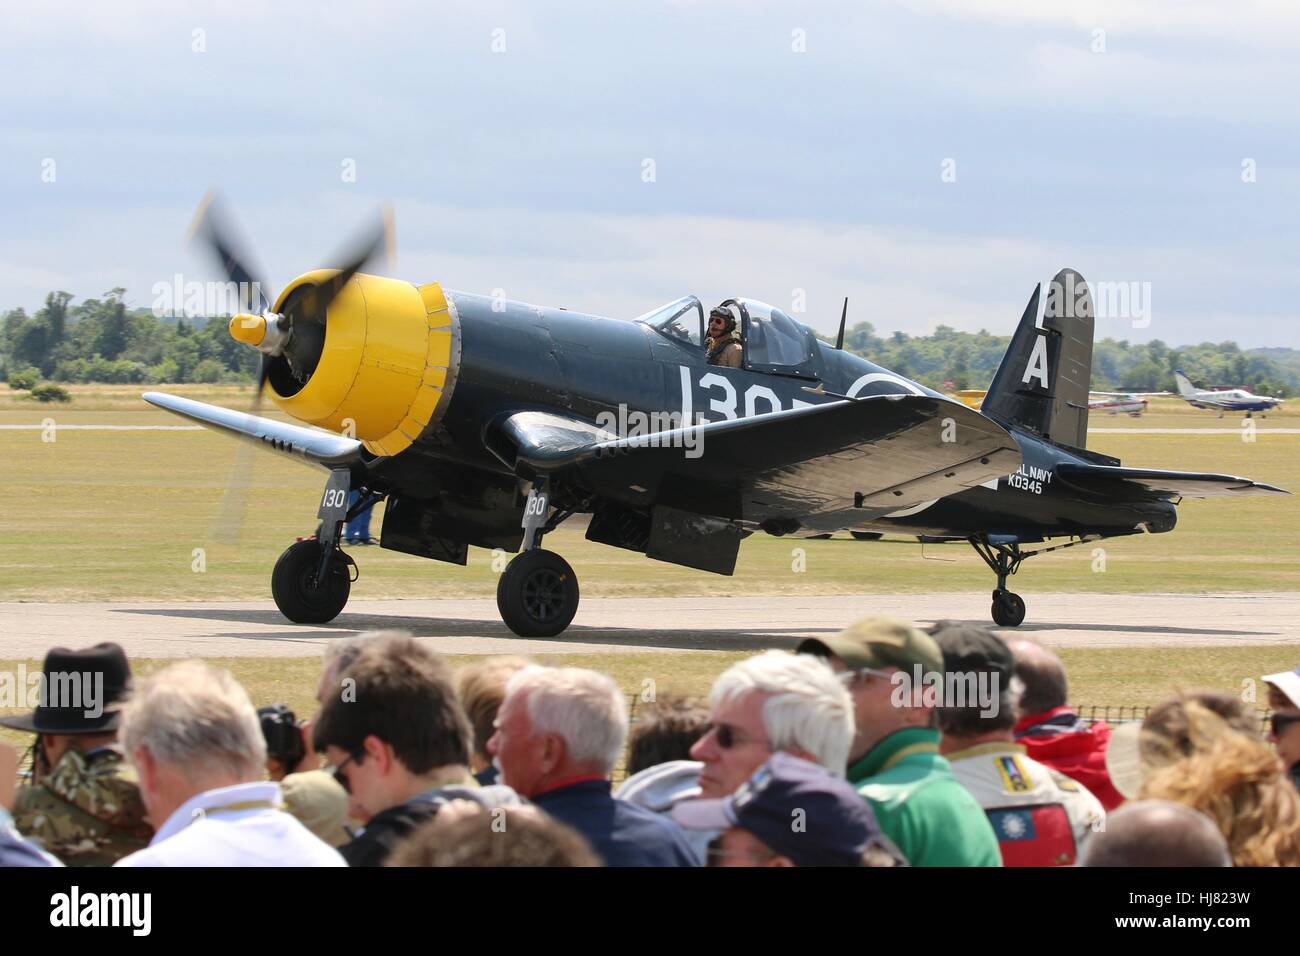
[[[183,661],[138,682],[121,743],[157,827],[118,866],[343,866],[263,780],[266,741],[230,671]]]

